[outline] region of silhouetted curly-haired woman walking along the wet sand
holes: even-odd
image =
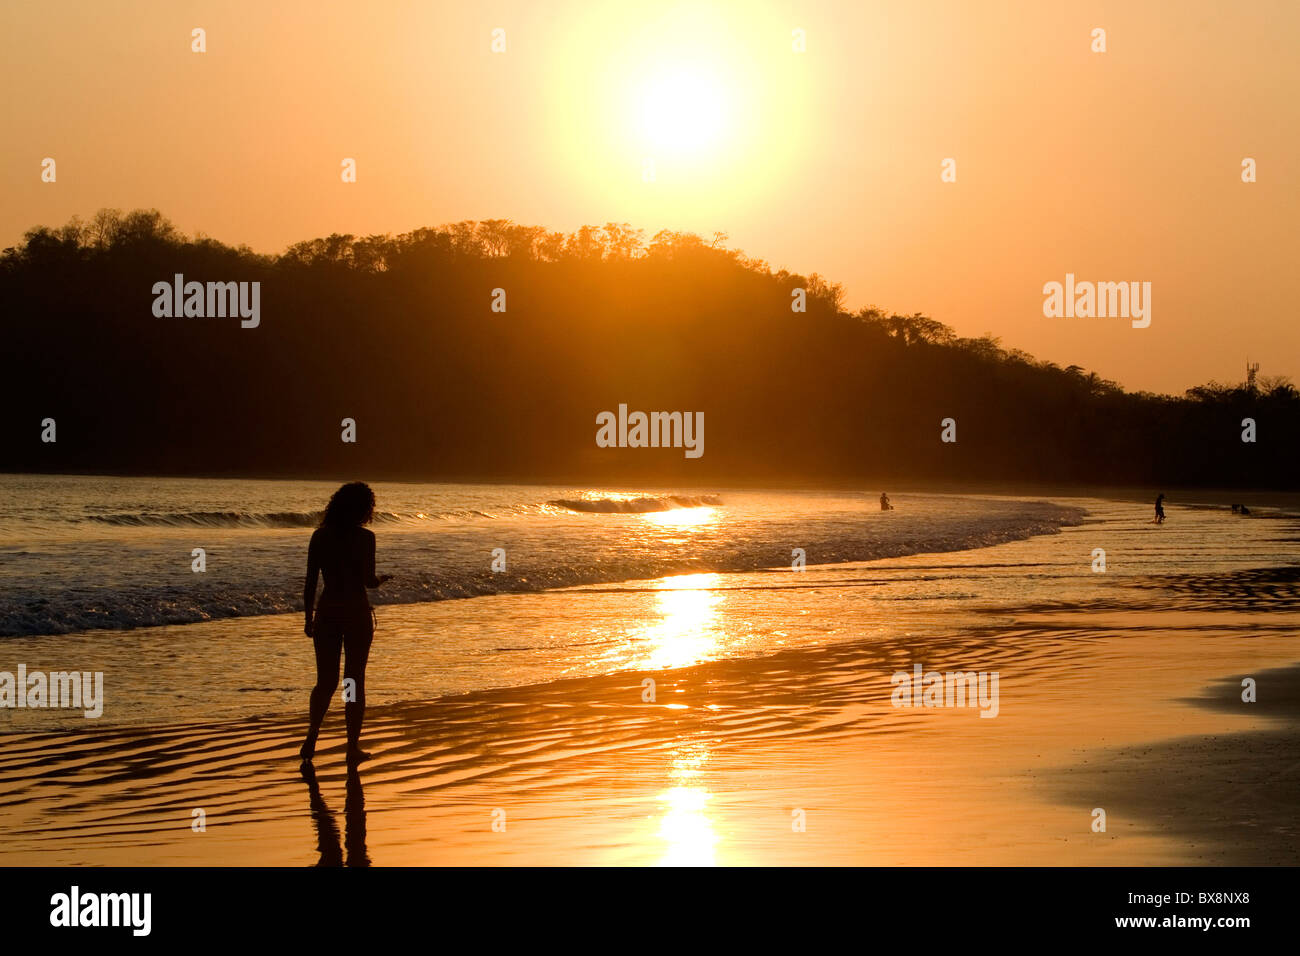
[[[307,548],[307,584],[303,609],[307,636],[316,645],[316,687],[312,689],[311,727],[300,750],[304,763],[316,756],[316,735],[338,689],[338,658],[344,654],[343,713],[347,718],[347,762],[356,765],[369,754],[361,750],[361,719],[365,715],[365,661],[374,637],[374,617],[367,588],[377,588],[393,575],[374,576],[374,532],[364,527],[374,518],[374,492],[363,481],[343,485],[325,507],[321,527]],[[316,581],[325,576],[325,591],[316,601]],[[313,607],[315,606],[315,607]],[[315,614],[313,614],[315,610]]]

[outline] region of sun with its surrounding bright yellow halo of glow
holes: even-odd
[[[555,29],[529,122],[547,174],[592,215],[711,233],[800,182],[826,96],[780,7],[580,4]]]

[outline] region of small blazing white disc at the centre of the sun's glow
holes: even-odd
[[[701,155],[724,139],[727,90],[707,68],[663,66],[638,94],[641,139],[653,155]]]

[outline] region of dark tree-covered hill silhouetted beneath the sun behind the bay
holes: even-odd
[[[155,317],[152,287],[176,273],[261,282],[260,326]],[[5,471],[1252,488],[1300,475],[1284,380],[1126,393],[923,315],[850,313],[840,286],[772,271],[723,234],[488,220],[268,256],[186,238],[157,211],[104,209],[6,248],[0,307]],[[597,447],[597,414],[620,402],[705,412],[703,457]],[[344,418],[356,444],[341,441]],[[940,441],[945,418],[956,444]]]

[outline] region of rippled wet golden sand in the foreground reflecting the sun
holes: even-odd
[[[1178,640],[1096,639],[1060,662],[994,650],[996,719],[892,708],[888,652],[862,645],[660,671],[655,702],[623,674],[393,705],[351,783],[328,722],[317,792],[294,719],[14,737],[0,862],[1295,862],[1294,710],[1277,730],[1265,708],[1187,702],[1242,652],[1205,643],[1188,669]],[[971,649],[926,666],[966,667]],[[1258,672],[1262,695],[1295,691],[1295,670]]]

